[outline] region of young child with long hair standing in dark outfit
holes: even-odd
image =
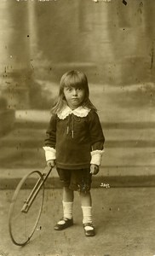
[[[52,108],[43,147],[47,165],[56,165],[63,186],[64,216],[55,225],[55,230],[72,226],[74,191],[78,191],[84,234],[95,236],[90,186],[92,174],[99,172],[105,142],[96,111],[89,100],[85,74],[75,70],[65,73],[60,79],[60,92]]]

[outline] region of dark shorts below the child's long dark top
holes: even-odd
[[[66,170],[57,168],[60,182],[63,187],[74,191],[89,192],[92,182],[90,169]]]

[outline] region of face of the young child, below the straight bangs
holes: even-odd
[[[68,106],[72,109],[78,108],[84,99],[85,91],[83,88],[65,87],[64,95]]]

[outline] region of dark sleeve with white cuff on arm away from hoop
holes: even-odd
[[[89,116],[89,134],[91,138],[91,161],[90,164],[100,166],[102,154],[104,152],[105,137],[97,113],[90,112]]]

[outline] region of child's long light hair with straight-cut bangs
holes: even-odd
[[[65,87],[83,88],[85,92],[82,104],[83,108],[90,108],[97,111],[93,103],[89,100],[89,84],[85,73],[71,70],[64,73],[60,79],[60,91],[54,107],[51,109],[52,113],[59,113],[66,104],[66,98],[64,96]]]

